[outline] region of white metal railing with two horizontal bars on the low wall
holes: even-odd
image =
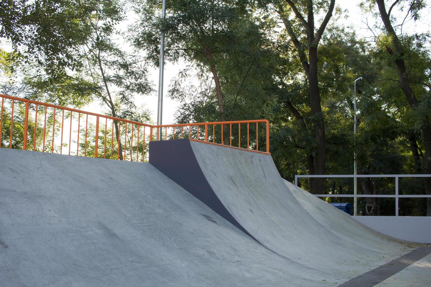
[[[430,194],[398,194],[398,179],[400,177],[431,177],[431,174],[322,174],[322,175],[295,175],[295,185],[298,185],[298,178],[358,178],[358,177],[394,177],[395,178],[395,194],[314,194],[317,197],[329,198],[355,198],[354,213],[357,215],[356,198],[395,198],[395,216],[398,216],[398,198],[431,198]]]

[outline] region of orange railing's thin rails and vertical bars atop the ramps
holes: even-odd
[[[258,142],[259,142],[259,136],[258,136],[258,123],[265,123],[265,128],[266,128],[266,137],[265,137],[265,141],[266,141],[266,153],[269,153],[269,122],[268,120],[232,120],[232,121],[223,121],[223,122],[208,122],[208,123],[175,123],[175,124],[165,124],[165,125],[152,125],[152,124],[147,124],[147,123],[140,123],[140,122],[136,122],[133,120],[126,120],[126,119],[122,119],[122,118],[118,118],[118,117],[112,117],[109,115],[105,115],[105,114],[97,114],[94,112],[88,112],[88,111],[82,111],[79,109],[75,109],[75,108],[67,108],[67,107],[63,107],[63,106],[59,106],[59,105],[53,105],[53,104],[48,104],[48,103],[44,103],[44,102],[38,102],[38,101],[34,101],[31,99],[23,99],[23,98],[18,98],[18,97],[14,97],[14,96],[8,96],[8,95],[3,95],[0,94],[0,98],[2,98],[1,101],[1,118],[0,118],[0,146],[1,146],[1,132],[2,132],[2,125],[3,125],[3,103],[4,103],[4,99],[10,99],[12,100],[12,113],[11,113],[11,123],[10,123],[10,144],[9,144],[9,148],[11,147],[12,144],[12,121],[13,121],[13,103],[14,101],[18,101],[18,102],[24,102],[25,103],[25,118],[24,118],[24,134],[27,135],[28,133],[28,118],[29,118],[29,104],[34,104],[36,105],[36,117],[35,117],[35,130],[34,130],[34,140],[36,140],[36,127],[37,127],[37,106],[44,106],[45,107],[45,127],[44,127],[44,146],[45,146],[45,128],[46,128],[46,123],[47,123],[47,118],[46,118],[46,113],[47,110],[46,108],[54,108],[54,123],[53,123],[53,137],[52,137],[52,146],[54,146],[54,125],[55,125],[55,111],[56,109],[62,110],[63,114],[62,114],[62,124],[61,124],[61,140],[63,139],[63,121],[64,121],[64,111],[70,111],[71,112],[71,117],[70,117],[70,127],[72,129],[72,112],[78,113],[78,114],[82,114],[82,115],[87,115],[87,120],[86,120],[86,129],[85,129],[85,144],[87,145],[87,122],[88,122],[88,115],[90,116],[94,116],[96,117],[96,137],[95,137],[95,157],[97,157],[97,147],[98,147],[98,138],[99,138],[99,119],[104,118],[105,119],[105,153],[106,153],[106,121],[108,119],[112,120],[112,136],[113,136],[113,127],[114,127],[114,121],[118,121],[120,123],[120,127],[121,128],[121,123],[125,123],[125,145],[126,145],[126,138],[127,138],[127,124],[131,124],[131,145],[130,145],[130,150],[132,153],[133,150],[133,125],[137,125],[137,128],[144,127],[144,139],[143,139],[143,153],[144,153],[144,149],[145,149],[145,127],[150,128],[150,139],[149,141],[152,141],[153,139],[153,129],[154,128],[164,128],[165,129],[165,139],[167,139],[167,128],[170,127],[172,128],[172,138],[175,139],[175,127],[181,127],[181,138],[183,138],[183,127],[189,127],[189,138],[191,138],[191,127],[197,127],[197,140],[200,140],[200,136],[199,136],[199,130],[200,127],[204,127],[205,128],[205,137],[203,140],[203,142],[209,142],[209,132],[208,132],[208,127],[212,127],[212,143],[215,143],[215,126],[221,126],[221,144],[225,145],[225,146],[232,146],[232,124],[238,125],[238,147],[237,148],[241,148],[241,124],[247,124],[247,150],[249,149],[249,142],[250,142],[250,123],[255,123],[256,124],[256,150],[254,151],[259,151],[259,146],[258,146]],[[67,120],[67,119],[66,119]],[[81,116],[79,117],[79,120],[81,120]],[[229,130],[230,130],[230,135],[229,135],[229,145],[224,143],[224,139],[223,139],[223,126],[227,126],[229,125]],[[79,145],[79,121],[78,121],[78,145]],[[160,129],[161,131],[162,129]],[[227,132],[227,131],[226,131]],[[69,145],[71,142],[71,133],[72,130],[69,131],[70,135],[69,135]],[[137,131],[138,136],[137,136],[137,150],[139,150],[139,129]],[[161,136],[161,133],[160,133]],[[118,148],[120,148],[120,135],[118,135],[118,139],[117,143],[118,143]],[[130,139],[130,136],[129,136]],[[34,144],[35,145],[35,144]],[[60,150],[62,148],[62,143],[60,144]],[[27,149],[27,137],[24,136],[23,139],[23,149]],[[33,148],[34,149],[34,148]],[[244,148],[246,149],[246,148]],[[251,150],[250,150],[251,151]],[[52,148],[52,152],[53,152],[53,148]],[[118,151],[120,152],[120,151]],[[60,151],[61,153],[61,151]],[[122,151],[121,151],[122,153]],[[70,154],[70,147],[69,147],[69,154]],[[78,154],[78,151],[77,151]],[[126,148],[124,150],[124,155],[126,155]],[[130,158],[131,158],[131,154],[130,154]],[[111,142],[111,158],[112,158],[112,142]],[[138,158],[138,156],[137,156]],[[144,154],[142,156],[143,160],[144,160]],[[132,158],[131,158],[132,160]]]

